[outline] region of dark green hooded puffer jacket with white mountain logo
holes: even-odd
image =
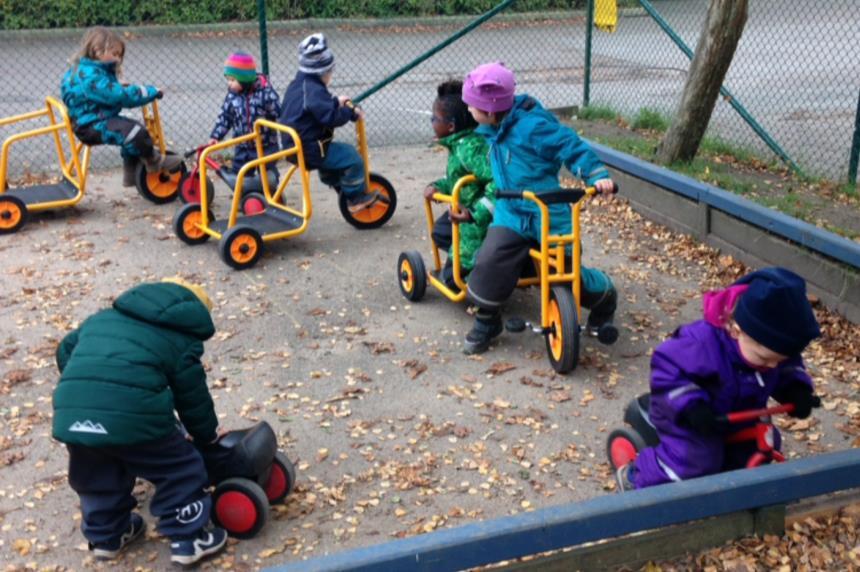
[[[87,318],[57,348],[54,438],[104,447],[166,437],[174,410],[196,439],[215,439],[218,419],[200,363],[212,317],[178,284],[141,284]]]

